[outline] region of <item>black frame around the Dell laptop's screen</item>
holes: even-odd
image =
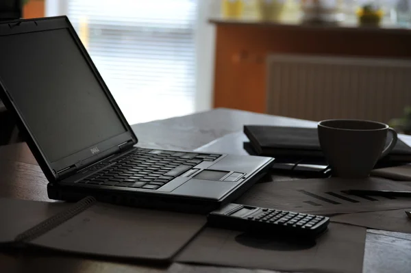
[[[74,165],[77,166],[77,168],[88,166],[96,161],[100,161],[101,159],[118,152],[119,146],[121,144],[124,144],[125,142],[131,142],[132,145],[138,142],[138,139],[134,134],[132,128],[123,116],[119,105],[117,105],[116,101],[114,101],[110,90],[108,90],[108,87],[105,85],[105,82],[101,78],[101,75],[95,67],[95,64],[92,62],[90,55],[88,55],[81,40],[77,36],[73,25],[71,25],[69,21],[69,18],[67,18],[66,16],[58,16],[0,22],[0,36],[25,34],[37,31],[49,31],[54,29],[67,29],[69,31],[71,37],[73,38],[73,42],[75,42],[77,48],[82,53],[84,60],[86,60],[88,66],[90,66],[92,73],[95,75],[97,81],[99,82],[101,89],[105,93],[105,96],[107,96],[110,105],[112,105],[114,109],[114,112],[116,112],[119,120],[121,120],[125,132],[120,133],[119,135],[115,135],[114,137],[107,140],[103,140],[102,142],[92,144],[81,151],[77,151],[76,153],[67,155],[66,157],[63,157],[56,161],[49,161],[47,155],[45,155],[44,151],[42,151],[40,144],[36,140],[36,136],[32,133],[32,130],[30,129],[29,125],[25,121],[25,118],[18,109],[18,105],[14,103],[12,96],[10,96],[7,90],[7,86],[2,83],[0,75],[0,94],[3,103],[5,104],[6,108],[8,108],[8,110],[11,110],[11,112],[14,113],[18,128],[23,131],[26,138],[25,140],[27,144],[29,144],[29,148],[36,157],[38,164],[42,168],[43,172],[45,172],[47,179],[53,179],[53,181],[58,179],[58,172],[61,172],[62,170],[66,170],[67,168],[70,168]],[[64,145],[64,143],[62,143],[62,145]],[[94,151],[94,153],[92,151]],[[99,152],[95,153],[95,151]]]

